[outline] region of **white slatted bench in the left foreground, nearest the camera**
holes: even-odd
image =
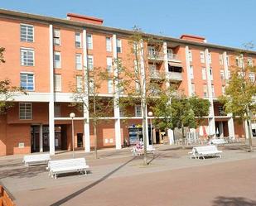
[[[58,174],[70,173],[70,172],[85,172],[87,175],[87,169],[89,165],[86,165],[85,158],[75,158],[68,160],[51,160],[48,162],[47,169],[49,170],[49,176],[57,178]]]

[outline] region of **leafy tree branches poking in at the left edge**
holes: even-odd
[[[4,50],[4,48],[0,47],[0,63],[5,63],[3,58]],[[10,79],[0,80],[0,114],[7,113],[7,109],[13,107],[14,103],[12,101],[15,95],[19,93],[27,94],[24,89],[12,86]]]

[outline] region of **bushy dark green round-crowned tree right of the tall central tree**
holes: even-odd
[[[153,111],[157,119],[154,123],[163,130],[171,128],[181,129],[182,146],[185,148],[185,127],[196,128],[203,120],[204,116],[209,115],[210,102],[207,99],[193,96],[187,98],[183,94],[172,92],[162,93]]]

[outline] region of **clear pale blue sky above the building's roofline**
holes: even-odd
[[[222,46],[256,46],[256,0],[0,0],[0,8],[60,18],[75,12],[103,18],[104,26],[138,26],[176,38],[204,36]]]

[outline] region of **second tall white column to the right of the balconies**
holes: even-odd
[[[209,133],[210,135],[215,137],[215,111],[214,111],[214,103],[213,103],[212,89],[211,89],[210,61],[209,61],[208,49],[205,49],[205,66],[206,66],[208,96],[210,101]]]

